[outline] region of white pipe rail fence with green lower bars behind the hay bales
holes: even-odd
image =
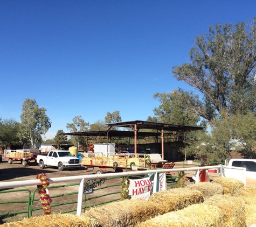
[[[153,174],[160,174],[160,173],[174,173],[174,172],[186,172],[186,171],[199,171],[202,169],[222,169],[222,165],[216,165],[216,166],[202,166],[202,167],[188,167],[188,168],[172,168],[172,169],[149,169],[149,170],[145,170],[145,171],[130,171],[130,172],[121,172],[121,173],[105,173],[105,174],[90,174],[90,175],[81,175],[81,176],[65,176],[65,177],[61,177],[61,178],[51,178],[49,179],[51,185],[54,183],[59,183],[59,182],[70,182],[70,181],[78,181],[78,183],[73,183],[70,185],[66,185],[66,186],[49,186],[48,188],[56,188],[56,189],[61,189],[64,187],[68,187],[68,186],[78,186],[78,191],[74,192],[74,193],[67,193],[67,194],[61,194],[61,195],[56,195],[55,197],[60,197],[60,196],[64,196],[64,195],[71,195],[71,194],[77,194],[77,201],[72,201],[72,203],[77,203],[77,208],[76,209],[71,209],[71,210],[67,210],[67,211],[61,211],[61,212],[73,212],[73,211],[77,211],[77,215],[81,215],[81,210],[82,209],[87,209],[89,207],[91,207],[91,205],[86,205],[86,201],[89,200],[93,200],[94,198],[99,198],[102,196],[107,196],[110,195],[111,193],[107,193],[105,195],[97,195],[94,197],[89,197],[86,200],[86,196],[83,199],[84,193],[83,193],[83,187],[84,187],[84,181],[89,181],[89,180],[95,180],[95,179],[113,179],[113,178],[123,178],[124,176],[138,176],[138,175],[147,175],[150,173]],[[222,174],[222,171],[219,171],[220,174]],[[175,176],[170,176],[170,178],[167,178],[167,185],[168,187],[174,187],[176,185],[176,183],[174,182],[177,179],[177,177]],[[173,182],[172,182],[173,181]],[[26,187],[26,186],[37,186],[40,185],[41,182],[40,180],[25,180],[25,181],[9,181],[9,182],[1,182],[0,184],[0,189],[8,189],[8,188],[19,188],[19,187]],[[115,187],[115,186],[121,186],[120,184],[115,184],[112,186],[102,186],[99,187],[96,190],[99,189],[105,189],[108,187]],[[22,191],[22,190],[27,190],[27,189],[16,189],[16,190],[3,190],[0,191],[0,193],[7,193],[7,192],[15,192],[15,191]],[[29,191],[29,190],[28,190]],[[34,201],[38,201],[38,199],[34,198],[34,194],[37,191],[37,189],[34,189],[32,196],[31,196],[31,192],[29,191],[29,195],[28,195],[28,200],[24,200],[24,201],[8,201],[8,202],[0,202],[0,204],[6,204],[6,203],[14,203],[14,202],[22,202],[22,203],[27,203],[27,209],[23,210],[23,211],[16,211],[16,212],[6,212],[6,214],[0,214],[0,216],[5,216],[5,215],[16,215],[16,214],[24,214],[27,213],[27,217],[32,217],[32,211],[36,211],[36,210],[40,210],[41,208],[38,207],[34,207],[33,206],[33,202]],[[113,193],[119,193],[120,191],[117,192],[113,192]],[[52,196],[54,197],[54,196]],[[119,199],[113,199],[110,201],[103,201],[102,204],[107,203],[107,202],[113,202]],[[58,207],[59,205],[65,205],[68,204],[69,202],[63,202],[63,203],[58,203],[58,204],[53,204],[52,207]],[[82,205],[84,203],[84,205]]]

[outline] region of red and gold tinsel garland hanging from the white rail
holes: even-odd
[[[50,215],[52,199],[50,195],[47,194],[47,189],[46,189],[46,187],[50,185],[49,178],[47,178],[46,174],[39,173],[37,174],[37,179],[41,181],[41,185],[38,185],[37,188],[38,188],[41,204],[43,205],[44,213],[46,215]]]

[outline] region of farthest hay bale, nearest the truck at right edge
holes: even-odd
[[[239,189],[244,187],[244,183],[240,180],[233,178],[215,178],[212,183],[219,183],[223,186],[224,195],[237,196],[239,194]]]

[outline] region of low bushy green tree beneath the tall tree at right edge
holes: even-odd
[[[190,140],[186,154],[196,154],[210,161],[222,161],[231,158],[232,153],[246,158],[255,156],[256,151],[256,117],[255,112],[246,115],[237,113],[228,115],[222,112],[220,117],[213,120],[209,127],[210,133],[196,132],[196,137]]]

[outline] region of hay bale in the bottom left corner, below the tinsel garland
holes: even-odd
[[[72,214],[54,214],[38,217],[25,218],[22,221],[11,222],[1,227],[97,227],[98,223],[91,218],[80,218]]]

